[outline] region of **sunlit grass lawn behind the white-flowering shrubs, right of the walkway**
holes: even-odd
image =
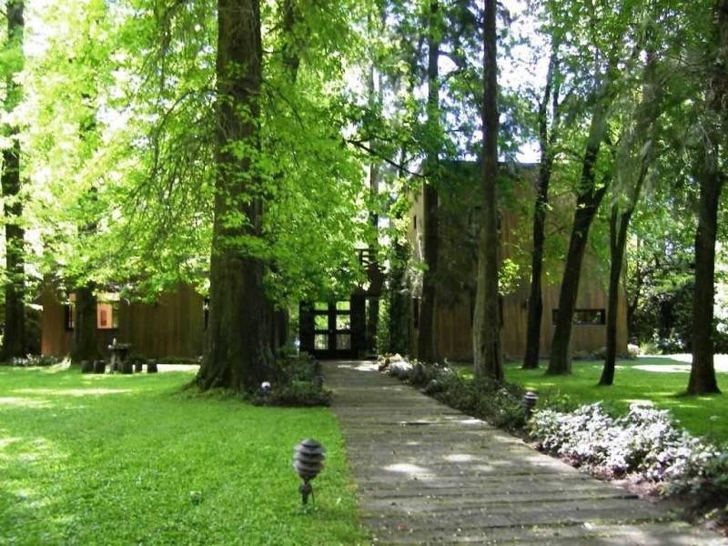
[[[521,369],[521,362],[511,362],[506,364],[506,379],[537,391],[541,399],[566,396],[578,404],[603,400],[606,407],[618,411],[626,410],[633,401],[649,399],[657,407],[671,410],[673,417],[694,435],[728,441],[726,371],[717,373],[718,386],[726,394],[689,397],[683,394],[690,370],[685,359],[640,357],[619,360],[612,387],[597,386],[602,360],[574,360],[572,375],[563,377],[544,375],[547,366],[548,362],[543,360],[541,369],[527,370]]]

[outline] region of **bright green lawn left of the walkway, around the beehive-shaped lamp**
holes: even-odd
[[[192,396],[191,378],[0,368],[0,544],[367,542],[329,410]],[[328,458],[304,510],[307,437]]]

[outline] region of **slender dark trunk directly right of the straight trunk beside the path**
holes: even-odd
[[[526,354],[523,369],[539,367],[539,348],[541,345],[541,316],[543,314],[543,298],[541,295],[541,272],[543,271],[543,247],[546,239],[546,207],[549,203],[549,184],[551,167],[553,166],[553,134],[549,137],[548,105],[551,98],[551,87],[556,70],[556,52],[551,54],[549,71],[546,75],[546,87],[539,106],[539,145],[541,147],[541,163],[539,180],[536,187],[536,203],[533,207],[533,249],[531,251],[531,291],[529,293],[528,323],[526,326]],[[558,92],[554,90],[553,115],[556,116]]]

